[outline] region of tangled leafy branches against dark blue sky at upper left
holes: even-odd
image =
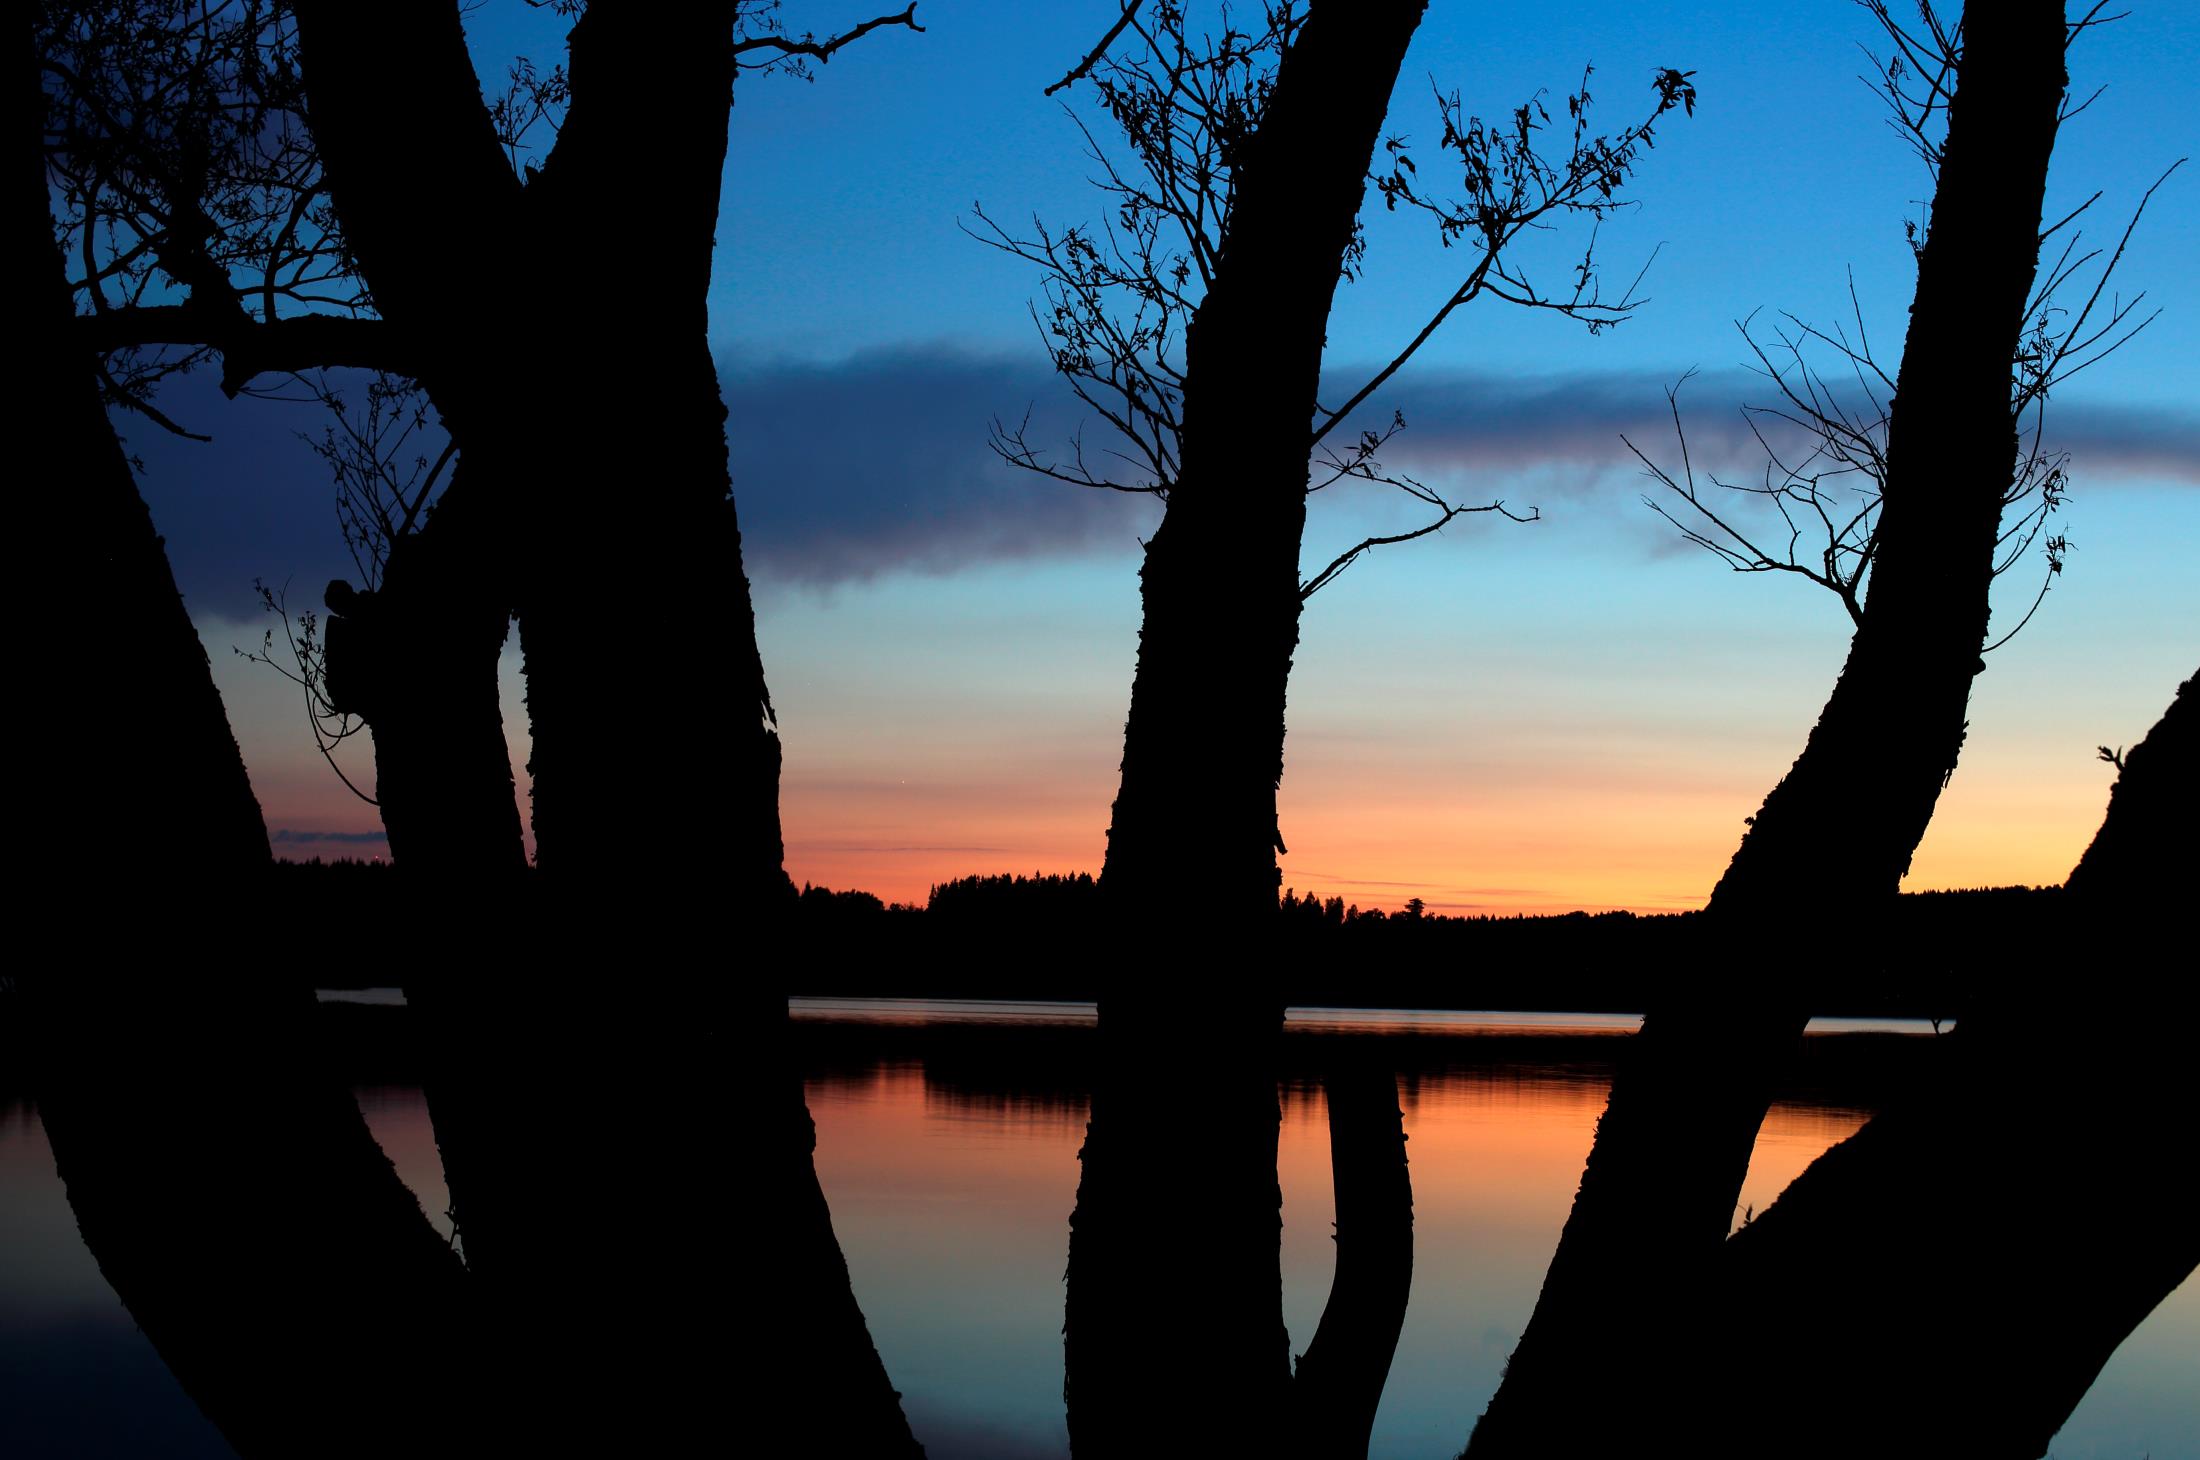
[[[585,11],[530,4],[565,20]],[[924,29],[915,4],[825,37],[788,35],[777,0],[739,9],[735,55],[763,57],[744,68],[803,77],[878,29]],[[66,4],[42,7],[35,24],[55,231],[77,262],[79,332],[106,356],[112,405],[185,431],[150,409],[152,394],[213,356],[229,396],[262,374],[416,365],[374,319],[330,207],[284,7]],[[537,176],[528,139],[557,134],[570,101],[563,64],[508,64],[488,112],[515,174]]]

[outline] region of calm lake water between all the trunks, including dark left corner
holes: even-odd
[[[1063,1264],[1089,1018],[1063,1005],[796,1005],[818,1176],[871,1335],[935,1460],[1067,1453]],[[1294,1051],[1382,1038],[1401,1071],[1415,1282],[1375,1456],[1459,1451],[1558,1245],[1604,1108],[1610,1036],[1632,1027],[1630,1018],[1294,1011],[1278,1165],[1285,1319],[1298,1343],[1329,1291],[1333,1212],[1327,1113],[1320,1091],[1296,1075],[1313,1060]],[[1872,1038],[1813,1040],[1811,1073],[1758,1139],[1742,1207],[1762,1209],[1868,1119],[1885,1069],[1905,1051],[1885,1033]],[[1929,1033],[1918,1027],[1910,1038]],[[449,1203],[420,1091],[367,1086],[359,1102],[442,1225]],[[35,1108],[0,1104],[0,1456],[229,1453],[77,1238]],[[2200,1460],[2193,1282],[2123,1343],[2053,1453]]]

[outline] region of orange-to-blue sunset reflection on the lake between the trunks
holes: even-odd
[[[1415,1282],[1377,1453],[1454,1453],[1496,1390],[1566,1223],[1608,1077],[1608,1064],[1489,1064],[1401,1082]],[[807,1097],[834,1229],[917,1434],[937,1453],[983,1449],[983,1436],[1065,1453],[1063,1269],[1082,1093],[950,1086],[920,1062],[889,1062],[812,1080]],[[1280,1110],[1283,1302],[1305,1346],[1333,1271],[1329,1117],[1320,1088],[1287,1086]],[[1775,1106],[1742,1201],[1762,1209],[1861,1119]]]

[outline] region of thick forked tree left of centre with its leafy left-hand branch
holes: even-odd
[[[139,20],[161,35],[174,15],[125,15],[121,29]],[[636,904],[612,897],[640,877],[678,886],[667,897],[675,941],[656,954],[667,959],[689,952],[678,934],[697,928],[704,904],[691,893],[704,880],[719,891],[715,910],[730,902],[752,917],[737,926],[757,948],[777,930],[770,915],[792,902],[779,748],[739,567],[704,288],[741,57],[827,59],[882,24],[913,24],[913,11],[821,42],[788,37],[768,7],[689,7],[647,24],[623,7],[590,9],[572,33],[570,84],[561,73],[528,92],[563,108],[563,119],[559,145],[521,180],[508,152],[513,112],[482,103],[458,7],[312,4],[295,35],[288,13],[251,4],[183,20],[178,68],[229,66],[220,75],[260,108],[246,141],[290,139],[290,123],[310,117],[310,136],[297,132],[295,150],[284,141],[290,202],[275,237],[304,233],[330,255],[356,290],[339,299],[348,308],[367,306],[372,281],[374,317],[288,314],[306,299],[288,292],[295,281],[279,248],[264,297],[242,288],[238,270],[264,259],[211,224],[167,222],[176,200],[213,211],[200,200],[231,174],[167,165],[163,154],[147,174],[163,178],[169,204],[145,220],[136,257],[158,257],[161,277],[147,273],[145,286],[183,290],[185,303],[143,303],[141,288],[99,312],[86,341],[211,347],[224,385],[238,389],[264,369],[310,365],[383,367],[425,385],[458,442],[458,468],[416,523],[383,530],[378,580],[332,594],[341,611],[323,688],[330,708],[356,708],[376,726],[385,816],[398,814],[394,792],[420,811],[405,831],[392,825],[400,858],[438,871],[517,866],[493,693],[495,651],[517,607],[537,831],[550,871],[598,895],[592,906],[563,897],[532,908],[537,923],[552,923],[530,928],[524,943],[537,965],[629,956],[625,943],[612,954],[594,937],[561,934],[574,923],[601,932],[598,912],[623,919],[623,941],[647,932]],[[136,84],[128,68],[117,75]],[[132,143],[136,134],[123,132]],[[266,163],[251,147],[244,156]],[[647,240],[623,220],[638,196],[662,226]],[[86,237],[108,222],[81,218]],[[504,292],[482,290],[473,259],[495,259]],[[651,310],[634,303],[638,270],[656,281]],[[420,499],[409,499],[407,517]],[[724,635],[730,666],[689,638],[706,624]],[[629,682],[645,693],[620,693]],[[689,734],[662,717],[669,695],[715,719],[719,754],[704,774],[686,754]],[[680,754],[667,754],[667,734],[682,739]],[[414,827],[420,838],[407,833]],[[429,908],[453,910],[469,908]],[[438,932],[453,959],[504,956]],[[561,1447],[640,1438],[693,1449],[724,1434],[722,1374],[739,1332],[768,1354],[746,1370],[761,1376],[759,1425],[801,1405],[803,1423],[810,1409],[825,1416],[816,1425],[834,1442],[854,1436],[865,1451],[913,1453],[847,1291],[799,1084],[777,1055],[785,989],[755,974],[741,987],[741,1005],[711,1009],[693,1027],[671,1018],[675,1000],[658,978],[594,992],[587,1007],[552,996],[548,1011],[422,992],[438,1139],[471,1278],[493,1308],[486,1361],[517,1376],[524,1414],[570,1420]],[[539,1038],[515,1040],[515,1027]],[[631,1242],[620,1240],[634,1225],[627,1192],[576,1192],[572,1132],[541,1108],[546,1066],[594,1036],[609,1053],[585,1135],[627,1150],[653,1198],[649,1231]],[[724,1082],[724,1069],[739,1080]],[[715,1159],[741,1121],[768,1130],[761,1154]],[[757,1154],[752,1181],[748,1154]],[[752,1214],[752,1242],[728,1242],[730,1209]],[[733,1253],[746,1251],[768,1253],[761,1282],[735,1269]],[[726,1324],[728,1343],[708,1339],[713,1324]]]

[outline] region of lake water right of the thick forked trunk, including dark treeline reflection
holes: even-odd
[[[1019,1027],[981,1027],[999,1022]],[[1371,1453],[1456,1453],[1496,1390],[1604,1110],[1615,1022],[1342,1011],[1287,1020],[1278,1176],[1294,1352],[1313,1335],[1333,1264],[1318,1049],[1375,1040],[1399,1073],[1415,1286]],[[1632,1020],[1617,1031],[1626,1027]],[[1905,1082],[1932,1053],[1929,1031],[1916,1029],[1907,1038],[1874,1025],[1806,1042],[1758,1135],[1736,1223]],[[1091,1093],[1089,1018],[1060,1007],[970,1022],[944,1005],[812,1007],[796,1038],[834,1227],[928,1453],[1065,1456],[1063,1253]],[[2200,1460],[2189,1438],[2200,1434],[2200,1401],[2185,1394],[2193,1337],[2200,1293],[2180,1291],[2123,1346],[2055,1453]],[[2165,1370],[2178,1365],[2182,1379],[2169,1381]]]

